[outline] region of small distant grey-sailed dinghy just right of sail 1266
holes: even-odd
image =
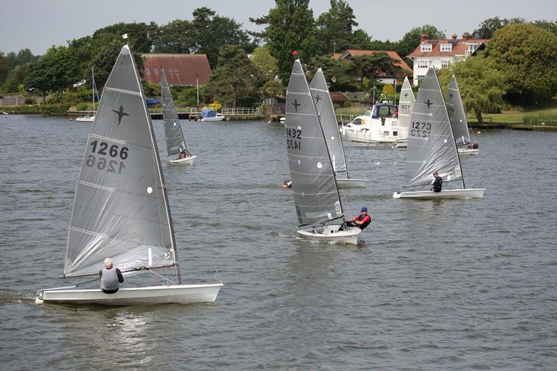
[[[182,154],[178,159],[171,159],[168,162],[170,164],[191,165],[197,156],[191,155],[191,152],[189,152],[184,132],[182,132],[182,125],[180,125],[180,119],[178,118],[178,111],[176,111],[172,93],[168,88],[166,74],[164,74],[163,68],[161,70],[162,120],[164,121],[166,152],[168,156]],[[183,155],[184,152],[185,155]]]

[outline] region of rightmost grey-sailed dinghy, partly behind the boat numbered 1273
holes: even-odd
[[[453,74],[448,84],[447,99],[448,118],[450,126],[453,127],[453,134],[458,147],[460,155],[479,155],[478,148],[471,148],[470,132],[468,123],[466,122],[466,113],[464,113],[464,106],[462,105],[462,98],[460,97],[460,90],[457,85],[457,78]]]

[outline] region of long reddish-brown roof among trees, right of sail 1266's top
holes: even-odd
[[[160,69],[164,68],[168,85],[203,85],[211,76],[205,54],[141,54],[143,79],[160,84]],[[196,80],[198,78],[198,81]]]

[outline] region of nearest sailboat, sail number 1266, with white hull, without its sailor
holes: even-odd
[[[78,289],[78,283],[38,290],[36,303],[198,303],[217,299],[223,286],[220,282],[182,284],[157,142],[129,45],[120,50],[88,135],[63,278],[98,277],[107,257],[127,277],[151,273],[166,281],[123,287],[114,294]],[[131,280],[125,285],[127,281]]]

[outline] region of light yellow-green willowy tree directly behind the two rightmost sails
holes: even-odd
[[[464,109],[473,112],[478,123],[483,124],[483,112],[498,112],[503,107],[503,74],[483,53],[451,63],[448,68],[439,71],[439,83],[445,86],[445,92],[453,74],[457,78]]]

